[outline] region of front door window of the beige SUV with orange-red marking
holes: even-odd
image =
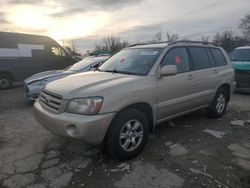
[[[162,65],[176,65],[178,73],[190,70],[186,48],[173,48],[168,51]]]

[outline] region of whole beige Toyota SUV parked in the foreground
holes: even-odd
[[[221,117],[236,84],[226,52],[201,42],[135,45],[97,70],[48,83],[35,117],[56,135],[104,143],[122,160],[164,121],[199,109]]]

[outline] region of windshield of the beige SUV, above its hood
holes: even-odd
[[[100,71],[146,75],[156,59],[161,54],[162,49],[125,49],[111,58],[99,67]]]

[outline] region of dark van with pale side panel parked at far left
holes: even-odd
[[[40,35],[0,32],[0,89],[46,70],[77,62],[55,40]]]

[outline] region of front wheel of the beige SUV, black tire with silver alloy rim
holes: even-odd
[[[146,116],[137,109],[127,109],[115,117],[108,131],[106,146],[120,160],[136,157],[149,135]]]

